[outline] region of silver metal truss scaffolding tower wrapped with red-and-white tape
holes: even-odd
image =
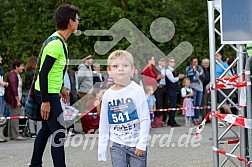
[[[214,1],[213,0],[208,0],[208,22],[209,22],[209,54],[210,54],[210,84],[211,87],[214,88],[215,84],[216,84],[216,59],[215,59],[215,55],[217,53],[219,53],[223,47],[225,46],[225,44],[222,44],[220,47],[218,47],[216,49],[216,38],[215,35],[219,35],[221,36],[221,31],[218,30],[218,28],[216,28],[216,24],[218,22],[220,22],[220,9],[216,8],[216,6],[214,5]],[[224,69],[224,73],[221,76],[224,76],[229,70],[230,68],[233,66],[234,63],[237,63],[238,68],[237,68],[237,73],[241,73],[242,71],[244,71],[244,45],[234,45],[234,44],[229,44],[229,46],[231,48],[233,48],[236,52],[236,59],[234,60],[234,62],[227,68]],[[242,78],[239,78],[239,81],[241,81]],[[226,95],[222,89],[212,89],[211,90],[211,108],[212,111],[218,111],[218,109],[221,108],[221,105],[223,103],[225,103],[225,101],[228,101],[230,104],[232,104],[235,108],[237,108],[238,110],[238,115],[239,116],[245,116],[245,111],[244,109],[241,109],[237,106],[237,104],[235,104],[232,100],[231,100],[231,95],[234,94],[234,92],[237,90],[237,88],[234,88],[231,93],[229,93],[228,95]],[[224,97],[225,100],[218,104],[217,106],[217,91],[219,93],[221,93]],[[238,95],[240,94],[240,90],[238,90]],[[247,148],[247,144],[246,144],[246,130],[244,128],[239,128],[239,133],[237,133],[234,129],[233,129],[233,125],[229,125],[226,122],[224,122],[226,124],[226,129],[224,130],[224,132],[222,132],[221,134],[218,131],[218,119],[216,117],[212,117],[212,136],[213,136],[213,147],[215,148],[220,148],[222,150],[224,150],[225,152],[228,152],[230,154],[234,154],[234,152],[238,151],[239,149],[239,156],[246,158],[246,148]],[[237,144],[234,145],[228,145],[228,148],[226,148],[225,146],[220,144],[220,141],[223,139],[223,137],[228,133],[233,133],[235,138],[237,138],[239,140],[239,142]],[[232,147],[232,148],[231,148]],[[240,166],[240,167],[245,167],[246,163],[245,162],[238,162],[235,159],[226,156],[224,157],[224,160],[222,162],[220,162],[220,159],[223,159],[222,157],[220,157],[222,155],[219,155],[219,153],[213,151],[213,166],[214,167],[219,167],[219,166],[224,166],[227,162],[232,163],[234,166]],[[230,166],[230,165],[229,165]]]

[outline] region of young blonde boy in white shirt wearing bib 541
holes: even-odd
[[[116,50],[108,57],[108,73],[115,83],[102,98],[98,160],[107,160],[111,141],[113,167],[147,166],[150,115],[143,88],[130,80],[133,64],[127,51]]]

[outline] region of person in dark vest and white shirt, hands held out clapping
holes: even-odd
[[[179,80],[185,77],[184,74],[177,75],[174,71],[174,68],[175,68],[175,58],[171,57],[168,59],[168,67],[165,71],[166,93],[169,98],[171,108],[176,108],[177,96],[179,90]],[[171,125],[171,127],[181,126],[176,122],[175,115],[176,110],[171,110],[169,112],[169,119],[167,125]]]

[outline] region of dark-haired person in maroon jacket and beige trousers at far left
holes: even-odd
[[[12,70],[9,72],[7,82],[10,84],[6,88],[4,100],[10,107],[10,116],[24,115],[22,108],[22,78],[20,73],[24,70],[24,62],[20,59],[12,64]],[[8,122],[8,135],[11,140],[26,140],[19,134],[19,120],[10,119]]]

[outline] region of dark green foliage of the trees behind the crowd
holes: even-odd
[[[1,0],[0,52],[4,57],[5,71],[14,59],[27,60],[37,56],[43,41],[56,30],[54,11],[63,3],[75,5],[80,10],[79,29],[107,30],[121,18],[129,19],[166,55],[179,43],[190,42],[193,55],[200,60],[208,57],[207,2],[195,0]],[[170,19],[176,28],[175,36],[167,43],[158,43],[150,36],[150,25],[159,17]],[[100,37],[71,36],[68,40],[70,58],[80,58],[85,52],[96,58],[94,43]],[[129,43],[120,41],[113,49],[126,49]],[[179,67],[184,72],[186,63]]]

